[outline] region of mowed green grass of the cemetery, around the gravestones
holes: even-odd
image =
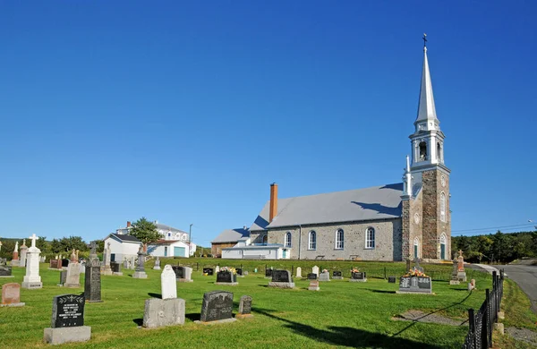
[[[225,261],[219,264],[226,265]],[[300,265],[294,261],[295,268]],[[362,262],[362,266],[367,271],[367,263]],[[451,270],[449,265],[434,268],[445,268],[447,273]],[[303,276],[309,270],[303,267]],[[320,283],[320,291],[313,292],[307,290],[309,283],[305,279],[295,279],[294,290],[268,288],[264,274],[249,271],[249,276],[239,278],[239,285],[222,286],[214,285],[216,276],[204,277],[201,270],[194,270],[193,283],[177,283],[177,294],[186,301],[185,324],[158,329],[143,329],[140,325],[145,300],[160,294],[160,271],[148,268],[148,279],[133,279],[133,270],[124,270],[124,277],[103,276],[104,302],[86,303],[85,325],[91,327],[90,342],[60,347],[458,348],[464,342],[466,327],[396,321],[392,317],[415,309],[465,318],[468,308],[480,307],[484,289],[491,282],[487,274],[472,271],[479,288],[472,294],[466,291],[466,285],[434,281],[433,292],[437,295],[407,295],[395,294],[398,285],[384,279],[369,277],[367,283],[351,283],[345,278]],[[21,283],[24,269],[13,268],[13,275],[14,278],[0,278],[0,284]],[[59,272],[48,270],[47,264],[41,264],[41,277],[43,289],[21,290],[25,307],[0,308],[0,346],[46,346],[42,343],[43,328],[50,327],[52,297],[83,292],[83,274],[79,289],[57,286]],[[234,293],[234,313],[240,297],[251,295],[254,317],[213,326],[194,324],[193,320],[200,317],[203,294],[214,290]]]

